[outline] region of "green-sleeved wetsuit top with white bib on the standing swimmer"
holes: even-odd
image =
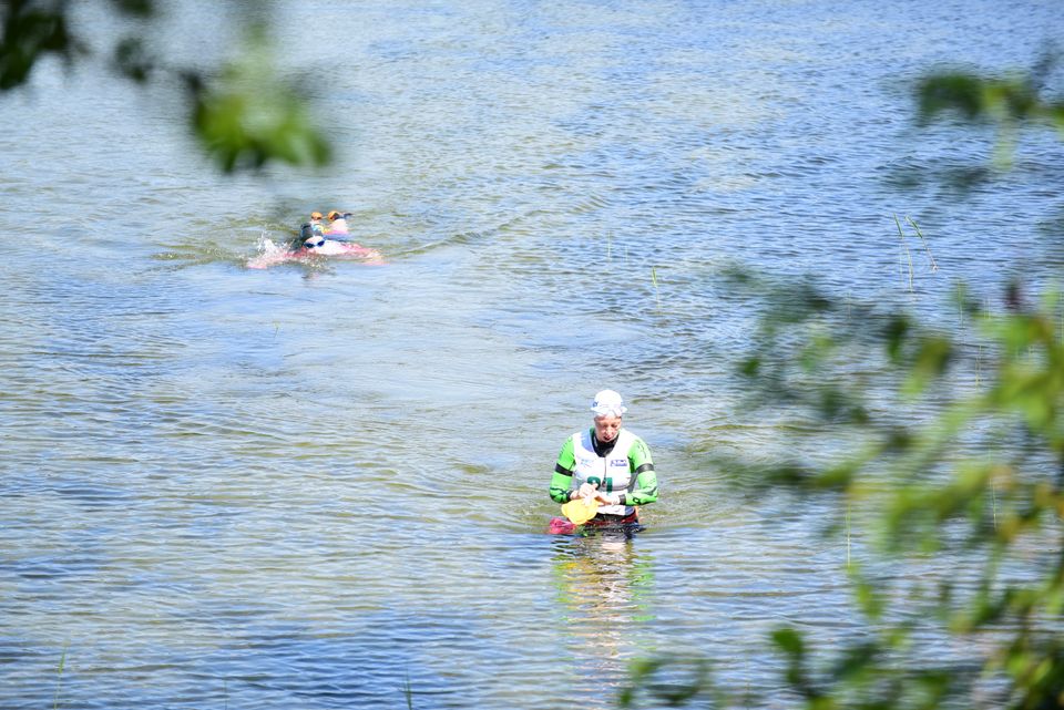
[[[620,505],[600,506],[605,515],[631,515],[633,505],[645,505],[657,500],[657,474],[651,451],[642,439],[622,429],[613,445],[596,451],[594,428],[576,432],[562,446],[551,479],[551,498],[555,503],[569,501],[569,493],[584,483],[598,486],[605,493],[620,493]]]

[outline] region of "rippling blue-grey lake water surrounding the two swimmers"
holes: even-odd
[[[178,4],[173,61],[233,47]],[[1030,66],[1058,3],[269,12],[327,173],[217,177],[177,97],[89,68],[0,96],[0,706],[611,708],[662,652],[771,696],[776,625],[857,632],[829,511],[708,462],[780,439],[737,404],[755,323],[717,277],[935,318],[958,281],[1058,276],[1057,138],[960,189],[993,135],[911,99],[943,62]],[[245,268],[332,208],[386,265]],[[939,265],[910,243],[912,295],[893,215]],[[606,387],[661,501],[633,542],[552,537]]]

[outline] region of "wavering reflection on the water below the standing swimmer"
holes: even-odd
[[[653,556],[622,529],[593,531],[555,541],[553,575],[576,692],[590,707],[614,707],[641,629],[655,619]]]

